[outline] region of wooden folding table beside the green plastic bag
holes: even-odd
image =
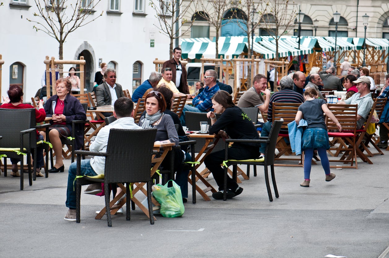
[[[159,156],[157,155],[153,155],[152,157],[152,160],[151,160],[151,163],[155,163],[154,166],[152,167],[151,169],[151,177],[154,175],[154,173],[156,173],[158,167],[161,165],[163,159],[165,159],[166,155],[168,154],[168,152],[170,150],[172,150],[172,146],[174,146],[175,143],[162,143],[162,142],[158,142],[158,143],[154,143],[154,149],[153,150],[156,150],[158,152],[160,152],[160,150],[162,149],[162,153],[160,153]],[[173,169],[173,168],[171,168]],[[143,192],[146,196],[147,196],[147,190],[145,190],[145,188],[143,187],[146,183],[134,183],[134,189],[132,190],[132,201],[147,215],[147,217],[149,218],[149,210],[135,197],[135,194],[140,190],[141,192]],[[124,204],[126,204],[126,198],[124,198],[123,200],[121,200],[121,202],[119,202],[119,205],[117,205],[117,207],[115,207],[115,209],[112,209],[112,206],[115,204],[115,202],[117,202],[125,193],[126,193],[126,188],[124,187],[123,184],[117,184],[119,185],[119,187],[122,189],[122,191],[116,195],[116,197],[109,203],[109,206],[111,207],[111,214],[114,215],[116,213],[116,211],[118,209],[120,209]],[[152,203],[156,206],[159,206],[160,204],[154,199],[154,197],[152,197]],[[104,208],[100,211],[100,213],[98,213],[95,217],[96,220],[100,220],[104,214],[105,214],[105,211],[106,211],[106,208],[104,206]],[[154,217],[154,220],[156,220],[156,218]]]

